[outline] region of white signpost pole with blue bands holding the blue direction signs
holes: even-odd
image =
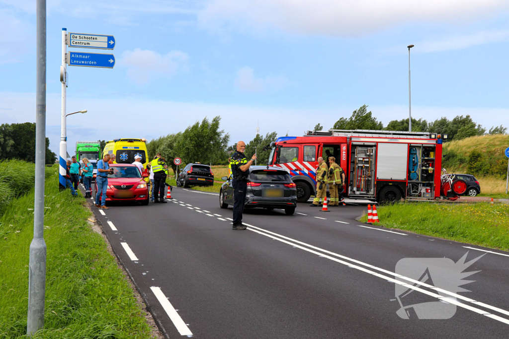
[[[64,72],[64,81],[62,81],[62,117],[61,117],[61,132],[60,132],[60,159],[59,159],[59,187],[60,190],[66,188],[66,173],[67,173],[67,131],[66,131],[66,82],[67,82],[67,67],[66,67],[66,54],[67,54],[67,28],[62,28],[62,66]]]

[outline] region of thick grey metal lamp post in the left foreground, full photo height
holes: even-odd
[[[37,0],[37,81],[34,238],[30,244],[29,308],[26,333],[44,327],[46,243],[44,242],[44,178],[46,161],[46,0]]]

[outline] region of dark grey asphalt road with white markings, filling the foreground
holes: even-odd
[[[93,207],[168,338],[509,337],[509,253],[361,224],[357,202],[328,213],[299,204],[292,216],[247,211],[250,226],[238,231],[217,194],[175,188],[173,197]],[[460,292],[465,267],[454,263],[467,251],[467,262],[485,256],[465,269],[479,272]],[[397,299],[397,286],[412,292]],[[412,304],[411,319],[400,318]],[[428,306],[428,317],[449,319],[422,319]]]

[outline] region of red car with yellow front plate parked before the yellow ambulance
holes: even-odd
[[[142,205],[148,205],[150,201],[149,189],[144,177],[136,165],[132,164],[110,164],[113,174],[108,174],[108,190],[106,201],[137,201]],[[95,184],[97,194],[97,183]]]

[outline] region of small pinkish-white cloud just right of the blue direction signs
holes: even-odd
[[[135,48],[122,53],[120,66],[127,67],[127,76],[143,84],[151,79],[170,77],[180,70],[187,70],[188,56],[182,51],[171,51],[164,55],[151,50]]]

